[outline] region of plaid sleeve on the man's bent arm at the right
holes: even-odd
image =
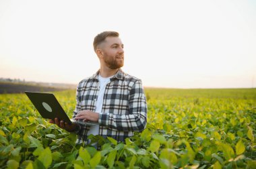
[[[147,103],[141,80],[136,80],[129,91],[129,113],[99,115],[100,125],[118,131],[143,131],[147,124]]]

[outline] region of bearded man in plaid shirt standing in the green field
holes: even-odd
[[[123,43],[117,32],[102,32],[94,38],[100,70],[79,82],[73,119],[98,125],[68,124],[51,120],[62,129],[75,132],[77,142],[90,142],[88,135],[113,137],[123,142],[133,131],[143,131],[147,123],[147,103],[141,80],[121,70]]]

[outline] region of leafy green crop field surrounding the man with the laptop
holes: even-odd
[[[100,149],[40,117],[24,94],[0,95],[0,168],[256,168],[256,89],[145,89],[148,124]],[[75,91],[54,92],[71,117]]]

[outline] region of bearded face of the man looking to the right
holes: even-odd
[[[107,37],[102,43],[102,56],[108,68],[117,69],[123,66],[124,50],[119,37]]]

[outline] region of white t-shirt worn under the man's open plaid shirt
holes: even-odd
[[[98,100],[96,102],[96,113],[102,113],[102,105],[103,105],[103,97],[104,97],[104,93],[105,93],[105,89],[106,89],[106,84],[108,84],[108,82],[110,82],[110,77],[107,78],[103,78],[102,76],[100,76],[100,74],[98,74],[98,80],[100,83],[100,91],[98,93]],[[88,135],[92,134],[92,135],[98,135],[98,131],[100,129],[100,125],[91,125],[90,130],[88,131]]]

